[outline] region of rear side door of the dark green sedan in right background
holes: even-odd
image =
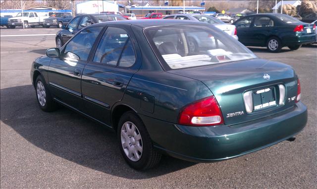
[[[267,16],[256,16],[250,27],[250,39],[256,46],[265,46],[266,39],[275,33],[274,21]]]

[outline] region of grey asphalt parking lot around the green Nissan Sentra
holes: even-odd
[[[55,47],[57,31],[1,27],[0,188],[316,188],[317,44],[280,53],[250,48],[293,66],[300,78],[309,116],[294,142],[215,163],[164,156],[158,167],[139,172],[124,162],[113,133],[66,108],[38,107],[30,66]],[[34,34],[50,35],[16,36]]]

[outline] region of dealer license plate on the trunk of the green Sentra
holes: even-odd
[[[277,105],[275,87],[267,87],[252,92],[253,112],[266,110]]]

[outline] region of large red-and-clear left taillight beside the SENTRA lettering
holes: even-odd
[[[178,123],[188,126],[223,124],[223,117],[214,96],[203,98],[182,108]]]

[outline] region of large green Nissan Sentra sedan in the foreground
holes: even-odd
[[[139,170],[161,154],[237,157],[288,140],[307,122],[291,66],[258,58],[203,22],[85,27],[35,59],[31,80],[42,110],[58,103],[116,132],[118,150]]]

